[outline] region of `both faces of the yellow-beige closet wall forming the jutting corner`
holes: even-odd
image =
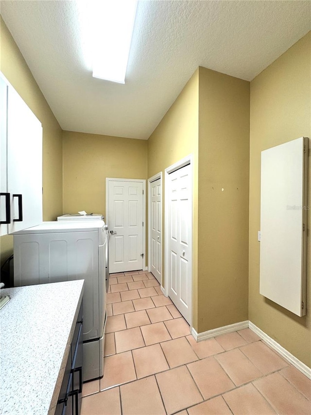
[[[148,177],[190,153],[192,322],[203,332],[248,318],[249,82],[198,68],[148,140]]]

